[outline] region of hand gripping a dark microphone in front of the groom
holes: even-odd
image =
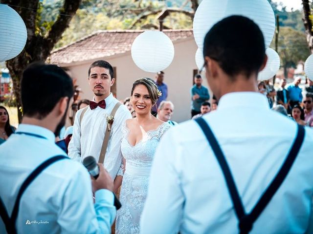
[[[92,182],[92,188],[93,190],[97,191],[99,189],[107,189],[111,192],[113,191],[113,180],[109,173],[104,169],[102,164],[97,164],[96,160],[93,156],[88,156],[83,160],[83,165],[87,168],[89,171],[90,176],[92,176],[94,179],[91,180]],[[117,197],[114,195],[114,206],[116,207],[116,210],[121,208],[121,203],[117,199]]]

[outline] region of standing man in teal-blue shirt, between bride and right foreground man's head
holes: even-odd
[[[191,117],[201,114],[201,104],[210,99],[209,91],[202,85],[202,78],[197,74],[194,78],[195,84],[192,86],[191,93]]]

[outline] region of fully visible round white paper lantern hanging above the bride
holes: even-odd
[[[174,45],[163,32],[146,31],[134,39],[132,58],[140,69],[156,73],[173,61]]]

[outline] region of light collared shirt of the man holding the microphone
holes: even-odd
[[[26,177],[46,159],[66,156],[55,144],[54,134],[46,128],[20,124],[16,132],[44,138],[13,134],[0,145],[0,197],[9,215]],[[69,159],[57,161],[39,174],[22,195],[17,231],[24,234],[110,233],[116,215],[113,194],[101,189],[95,197],[93,204],[90,176],[80,163]],[[1,219],[0,233],[6,233]]]

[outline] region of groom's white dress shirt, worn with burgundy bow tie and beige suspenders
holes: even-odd
[[[99,160],[100,151],[107,128],[107,116],[118,102],[112,94],[105,99],[106,108],[96,107],[91,110],[88,107],[84,114],[82,123],[80,115],[83,109],[76,113],[73,136],[68,144],[68,156],[76,161],[83,161],[87,156],[93,156],[96,161]],[[114,179],[122,162],[121,139],[122,139],[122,123],[126,119],[132,118],[130,111],[121,105],[114,116],[114,121],[111,126],[111,134],[104,159],[104,167]]]

